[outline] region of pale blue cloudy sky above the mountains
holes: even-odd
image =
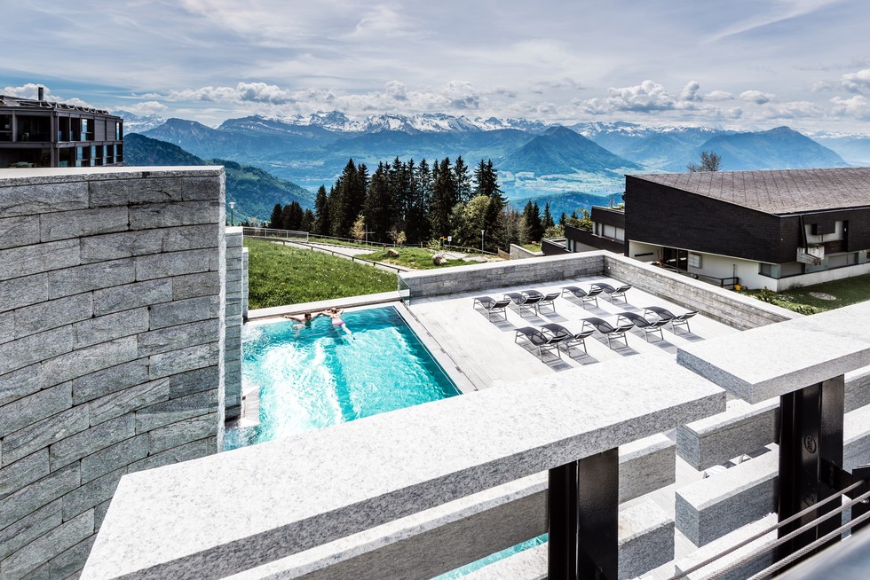
[[[28,2],[4,13],[0,93],[209,125],[337,109],[870,134],[868,22],[866,0]]]

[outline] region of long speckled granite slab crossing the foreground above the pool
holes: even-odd
[[[129,474],[83,577],[225,576],[724,408],[638,355]]]

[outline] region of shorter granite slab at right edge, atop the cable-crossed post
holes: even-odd
[[[870,364],[870,302],[692,344],[676,360],[761,403]]]

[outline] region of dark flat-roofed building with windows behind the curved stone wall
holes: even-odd
[[[86,106],[0,95],[0,168],[123,164],[123,119]]]

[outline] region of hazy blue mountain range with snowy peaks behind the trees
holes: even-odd
[[[472,167],[481,159],[492,159],[502,190],[512,200],[566,192],[592,199],[613,195],[622,191],[626,173],[681,172],[698,161],[702,151],[718,153],[723,170],[849,165],[818,140],[787,127],[736,132],[624,121],[563,127],[447,114],[379,114],[355,121],[332,111],[286,118],[255,115],[211,128],[184,119],[121,114],[128,136],[139,132],[203,159],[233,160],[264,169],[309,192],[335,183],[348,159],[371,169],[396,157],[431,163],[443,157],[455,161],[461,155]],[[853,159],[866,147],[870,159],[870,137],[866,141],[854,136],[816,138],[824,138],[832,147],[842,145]]]

